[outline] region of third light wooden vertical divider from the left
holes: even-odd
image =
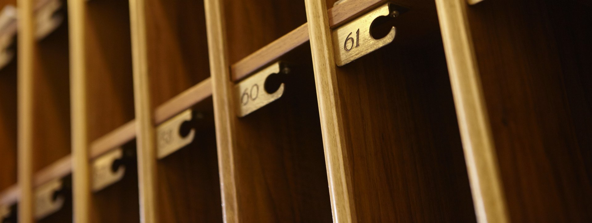
[[[146,20],[143,0],[130,0],[131,51],[136,112],[140,221],[157,222],[155,125],[147,73]]]

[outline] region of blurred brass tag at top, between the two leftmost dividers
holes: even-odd
[[[62,8],[62,1],[51,0],[36,13],[36,32],[35,37],[37,40],[41,40],[62,24],[64,17],[63,15],[56,14],[56,11]]]

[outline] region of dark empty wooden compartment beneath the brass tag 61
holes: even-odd
[[[475,222],[435,2],[404,2],[371,26],[375,39],[396,27],[394,41],[336,69],[352,211],[358,222]]]

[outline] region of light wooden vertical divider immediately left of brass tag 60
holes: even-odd
[[[234,176],[233,152],[236,143],[234,133],[233,84],[230,80],[230,62],[227,48],[226,21],[223,1],[204,0],[205,23],[212,78],[216,143],[218,145],[218,169],[224,222],[238,222],[237,188]]]

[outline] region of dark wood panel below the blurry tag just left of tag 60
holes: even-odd
[[[212,99],[192,107],[194,141],[159,160],[160,222],[222,222]]]

